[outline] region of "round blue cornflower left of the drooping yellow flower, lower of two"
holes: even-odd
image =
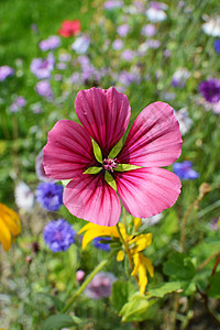
[[[76,231],[64,219],[52,220],[43,231],[45,243],[52,252],[66,251],[74,242]]]

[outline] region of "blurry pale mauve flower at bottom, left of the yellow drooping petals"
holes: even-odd
[[[111,287],[117,277],[109,272],[99,272],[85,289],[87,297],[101,299],[111,296]]]

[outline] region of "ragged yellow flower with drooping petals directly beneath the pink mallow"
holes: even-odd
[[[144,294],[147,284],[146,273],[148,272],[150,276],[153,277],[154,267],[150,258],[143,255],[142,251],[151,245],[152,234],[138,234],[136,231],[142,224],[142,220],[140,218],[134,218],[133,224],[133,233],[130,235],[127,234],[125,228],[122,223],[119,223],[119,230],[124,243],[129,248],[129,252],[133,262],[133,270],[131,275],[138,276],[140,292]],[[120,239],[117,227],[105,227],[90,222],[82,227],[78,233],[81,234],[82,232],[85,232],[82,238],[82,249],[86,249],[87,244],[98,237],[111,237]],[[123,261],[124,255],[124,250],[120,250],[117,254],[117,261]]]

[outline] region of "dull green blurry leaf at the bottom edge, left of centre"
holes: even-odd
[[[81,320],[79,318],[73,319],[66,314],[57,314],[50,316],[41,326],[41,330],[54,330],[62,329],[64,327],[72,327],[79,323]]]

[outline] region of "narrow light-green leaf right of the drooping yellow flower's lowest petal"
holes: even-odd
[[[146,298],[150,299],[152,297],[158,297],[163,298],[165,295],[170,294],[173,292],[177,292],[182,289],[180,282],[168,282],[168,283],[162,283],[154,288],[148,289],[148,294],[146,295]]]

